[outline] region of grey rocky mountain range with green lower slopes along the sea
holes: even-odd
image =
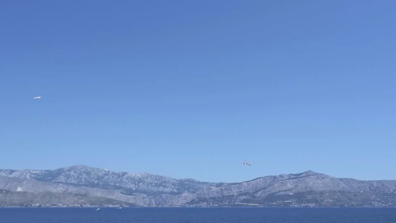
[[[396,181],[307,171],[209,183],[75,165],[0,170],[0,206],[396,206]]]

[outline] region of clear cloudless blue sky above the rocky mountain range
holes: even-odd
[[[0,168],[396,179],[395,7],[2,2]]]

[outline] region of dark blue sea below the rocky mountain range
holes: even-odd
[[[396,223],[396,208],[0,208],[0,223]]]

